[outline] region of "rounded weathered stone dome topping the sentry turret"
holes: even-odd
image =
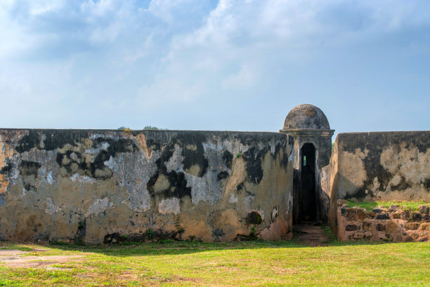
[[[284,130],[313,128],[330,130],[327,116],[319,107],[314,105],[298,105],[288,113],[284,122]]]

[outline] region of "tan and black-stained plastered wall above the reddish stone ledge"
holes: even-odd
[[[430,202],[430,131],[339,133],[321,189],[338,235],[338,199]]]

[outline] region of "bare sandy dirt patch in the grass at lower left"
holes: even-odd
[[[27,256],[34,251],[41,252],[46,251],[46,249],[34,249],[32,251],[0,249],[0,263],[7,267],[41,268],[84,257],[84,255]]]

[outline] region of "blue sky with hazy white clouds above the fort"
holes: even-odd
[[[430,129],[430,1],[1,0],[0,126]]]

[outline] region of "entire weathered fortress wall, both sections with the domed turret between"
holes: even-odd
[[[299,105],[280,133],[0,130],[0,240],[111,243],[292,238],[429,241],[430,131],[339,133]],[[412,224],[413,223],[413,224]]]

